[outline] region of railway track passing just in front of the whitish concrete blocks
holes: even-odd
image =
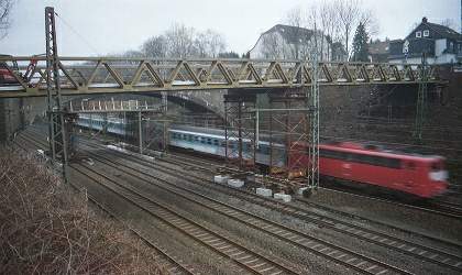
[[[117,153],[117,154],[122,154],[122,153]],[[124,154],[124,157],[127,157],[128,155]],[[155,167],[156,169],[160,169],[160,164],[157,163],[155,166],[153,166],[154,164],[147,164],[145,162],[145,160],[141,161],[141,160],[136,160],[134,156],[129,156],[133,162],[142,164],[144,166],[148,166],[148,167]],[[178,176],[177,172],[175,173],[175,170],[169,170],[169,168],[167,167],[162,167],[163,173],[169,173],[172,176]],[[184,176],[184,175],[182,175]],[[204,178],[195,178],[195,180],[204,180]],[[204,185],[204,184],[202,184]],[[212,184],[210,186],[217,187],[216,184]],[[226,188],[221,188],[221,191],[227,189],[228,193],[230,190],[230,188],[226,187]],[[237,190],[232,190],[233,196],[235,195]],[[327,217],[321,217],[321,216],[317,216],[312,212],[307,212],[305,209],[297,209],[296,207],[288,207],[285,205],[280,205],[274,201],[271,201],[272,204],[268,204],[270,200],[264,201],[264,199],[262,199],[258,196],[250,196],[249,193],[245,191],[240,191],[238,193],[239,196],[242,199],[249,200],[249,197],[251,198],[252,202],[256,202],[258,205],[265,206],[265,207],[271,207],[275,210],[278,211],[283,211],[285,213],[288,213],[290,216],[294,216],[296,218],[302,219],[302,220],[307,220],[310,222],[314,222],[316,224],[319,226],[323,226],[323,227],[329,227],[330,229],[334,230],[334,231],[339,231],[345,234],[350,234],[353,235],[355,238],[362,239],[362,240],[366,240],[371,243],[375,243],[388,249],[393,249],[396,250],[398,252],[403,252],[405,254],[409,254],[416,257],[419,257],[421,260],[428,261],[428,262],[432,262],[432,263],[437,263],[439,265],[442,265],[444,267],[450,267],[452,270],[457,270],[457,271],[461,271],[461,257],[458,255],[453,255],[451,253],[447,253],[437,249],[432,249],[429,246],[425,246],[421,244],[417,244],[417,243],[413,243],[396,237],[392,237],[382,232],[377,232],[377,231],[373,231],[370,229],[364,229],[362,227],[358,227],[351,223],[345,223],[343,221],[340,220],[334,220],[331,218],[327,218]],[[245,195],[244,195],[245,194]]]

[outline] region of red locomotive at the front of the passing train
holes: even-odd
[[[306,143],[296,143],[289,167],[307,167]],[[319,144],[319,173],[339,179],[380,186],[421,198],[448,189],[448,172],[441,156],[411,155],[351,142]]]

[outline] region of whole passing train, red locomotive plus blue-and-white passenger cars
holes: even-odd
[[[77,123],[87,128],[91,127],[86,119],[78,120]],[[98,123],[92,124],[94,129],[101,129]],[[108,131],[125,134],[122,122],[114,123],[112,128],[108,128]],[[170,146],[224,156],[223,130],[172,125],[168,131]],[[231,146],[237,147],[237,143],[232,140]],[[295,174],[306,174],[306,167],[309,166],[308,144],[293,143],[288,157],[285,155],[282,143],[273,143],[273,146],[275,147],[273,165],[282,167],[288,162],[289,167],[298,169]],[[249,140],[244,140],[244,158],[251,157],[249,151]],[[337,179],[383,187],[419,198],[439,196],[448,189],[449,185],[444,158],[441,156],[405,154],[351,142],[322,143],[319,145],[319,155],[320,174]],[[255,161],[258,164],[268,165],[270,144],[267,141],[258,142]]]

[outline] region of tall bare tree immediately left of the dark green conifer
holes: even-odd
[[[360,10],[360,1],[359,0],[337,0],[336,7],[339,12],[340,19],[340,28],[341,33],[343,35],[343,41],[346,48],[346,54],[350,55],[350,41],[351,41],[351,32],[353,28],[355,28],[361,19],[361,10]]]

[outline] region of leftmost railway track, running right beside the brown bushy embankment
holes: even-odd
[[[26,142],[32,142],[35,145],[42,145],[41,143],[36,142],[36,141],[32,141],[32,140],[28,140]],[[35,143],[34,143],[35,142]],[[15,142],[15,145],[24,151],[29,151],[31,150],[30,147],[26,147],[24,144],[19,144],[18,142]],[[42,147],[44,148],[44,147]],[[91,177],[88,177],[85,173],[81,173],[78,169],[75,169],[76,172],[80,173],[81,176],[94,180]],[[81,189],[79,189],[75,184],[69,183],[70,186],[76,189],[77,191],[81,191]],[[117,221],[119,221],[121,224],[123,224],[124,222],[121,220],[121,218],[113,212],[112,210],[110,210],[109,208],[107,208],[106,206],[101,205],[97,199],[95,199],[91,195],[86,194],[87,198],[94,204],[96,205],[99,209],[101,209],[103,212],[106,212],[107,215],[109,215],[110,217],[112,217],[113,219],[116,219]],[[127,224],[125,224],[127,226]],[[161,265],[164,267],[164,270],[166,272],[168,272],[169,274],[174,274],[174,275],[194,275],[194,274],[199,274],[198,272],[196,272],[193,267],[185,265],[183,263],[183,261],[178,260],[176,256],[170,255],[168,252],[166,252],[165,249],[161,248],[157,243],[155,243],[153,240],[145,238],[139,230],[136,230],[133,227],[127,226],[128,229],[130,230],[130,232],[134,235],[136,235],[140,240],[142,240],[147,246],[150,246],[155,255],[155,260],[161,263]]]

